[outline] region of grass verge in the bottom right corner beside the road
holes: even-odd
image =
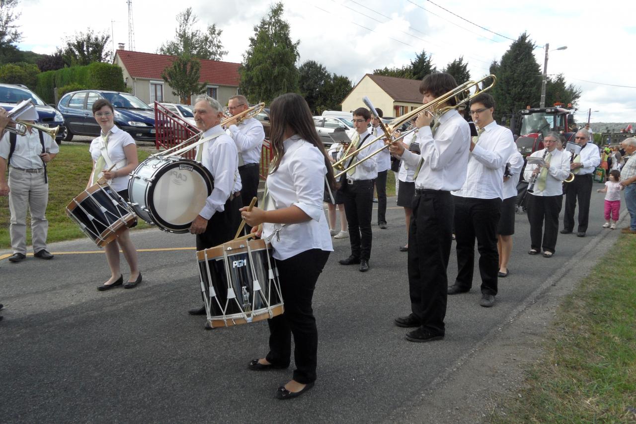
[[[612,251],[559,307],[525,388],[492,423],[636,422],[636,237]]]

